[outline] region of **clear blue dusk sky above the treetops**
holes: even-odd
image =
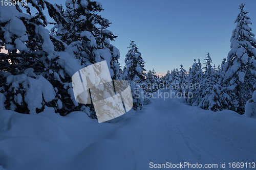
[[[96,1],[104,9],[101,16],[112,22],[109,30],[118,36],[112,44],[120,51],[122,67],[130,40],[137,44],[147,71],[155,68],[156,72],[166,72],[180,68],[180,64],[188,70],[194,59],[203,63],[207,52],[218,66],[230,51],[230,37],[241,3],[249,12],[250,27],[256,34],[255,0]],[[49,2],[65,5],[65,0]]]

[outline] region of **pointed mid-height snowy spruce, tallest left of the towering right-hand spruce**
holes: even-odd
[[[207,53],[205,61],[206,66],[203,68],[205,71],[202,77],[202,93],[199,106],[205,110],[220,111],[222,107],[220,102],[221,87],[218,84],[214,68],[211,66],[212,60],[209,53]]]

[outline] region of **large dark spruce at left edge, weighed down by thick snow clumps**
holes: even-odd
[[[35,114],[47,107],[62,108],[57,88],[51,82],[58,77],[53,67],[57,69],[59,65],[52,59],[54,45],[45,29],[48,22],[43,10],[47,7],[58,23],[63,18],[57,6],[47,1],[28,3],[30,5],[0,6],[0,45],[8,50],[8,54],[0,54],[0,86],[6,109]],[[31,6],[37,11],[35,15],[30,12]],[[27,13],[23,13],[22,8]]]

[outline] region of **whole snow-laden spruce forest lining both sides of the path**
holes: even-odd
[[[161,78],[154,69],[146,72],[134,41],[125,56],[125,66],[120,66],[119,50],[111,44],[117,36],[108,30],[111,22],[99,15],[103,10],[100,3],[66,1],[66,10],[46,1],[31,5],[37,10],[34,16],[29,5],[23,6],[27,13],[18,5],[1,7],[1,48],[8,50],[1,53],[1,109],[36,114],[48,108],[63,116],[85,111],[96,118],[91,105],[74,100],[71,77],[77,70],[105,60],[112,79],[134,85],[135,110],[142,109],[144,101],[158,89],[169,88],[187,103],[205,110],[244,114],[247,108],[247,116],[254,114],[256,40],[244,5],[232,31],[231,50],[218,67],[211,65],[207,53],[204,62],[194,60],[188,71],[180,65]],[[55,20],[50,32],[45,7]],[[138,95],[141,90],[145,95]]]

